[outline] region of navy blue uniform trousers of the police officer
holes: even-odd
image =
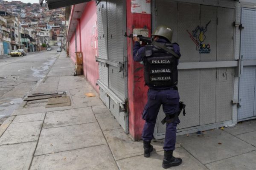
[[[177,90],[169,88],[166,90],[148,89],[148,102],[143,110],[142,118],[145,120],[142,139],[151,141],[153,139],[154,127],[157,120],[157,114],[160,106],[163,105],[163,112],[172,115],[179,111],[180,96]],[[163,149],[175,150],[177,124],[176,119],[173,123],[166,123],[166,135]]]

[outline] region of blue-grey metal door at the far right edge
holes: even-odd
[[[241,24],[241,77],[239,80],[238,120],[252,119],[255,111],[255,84],[256,84],[256,10],[242,8]]]

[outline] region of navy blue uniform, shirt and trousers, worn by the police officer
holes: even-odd
[[[159,43],[166,43],[165,39],[158,39]],[[180,48],[177,43],[173,44],[173,49],[180,56]],[[139,42],[134,43],[133,58],[134,61],[141,62],[145,57],[145,47],[141,47]],[[178,64],[178,59],[177,59]],[[157,114],[160,106],[163,105],[163,111],[166,114],[172,115],[179,110],[180,96],[176,87],[153,88],[148,89],[148,102],[143,110],[142,118],[145,120],[142,139],[151,141],[153,139],[154,126],[157,120]],[[177,119],[173,123],[166,123],[166,136],[163,149],[175,150],[177,124],[180,120]]]

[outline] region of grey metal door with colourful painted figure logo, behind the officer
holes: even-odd
[[[231,120],[234,69],[224,65],[207,68],[204,62],[234,60],[234,9],[172,0],[156,0],[155,4],[156,26],[152,28],[172,28],[173,42],[178,42],[182,54],[179,65],[203,63],[202,67],[179,69],[180,100],[186,104],[188,114],[180,116],[178,129]],[[210,50],[201,52],[200,45]],[[160,109],[154,133],[157,139],[164,137],[165,125],[160,122],[163,117]]]

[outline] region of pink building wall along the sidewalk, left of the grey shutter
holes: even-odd
[[[96,4],[94,1],[86,4],[84,12],[78,20],[76,42],[77,51],[83,52],[84,76],[93,88],[99,92],[99,87],[96,86],[96,79],[99,79],[99,65],[95,59],[98,51],[98,37]],[[76,62],[75,44],[75,33],[73,33],[73,37],[70,40],[70,58],[73,62]]]

